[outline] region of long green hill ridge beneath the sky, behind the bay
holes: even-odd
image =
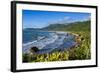
[[[90,21],[75,22],[69,24],[51,24],[42,30],[53,31],[90,31]]]

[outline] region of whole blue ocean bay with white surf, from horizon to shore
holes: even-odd
[[[74,39],[74,36],[67,32],[23,30],[22,51],[23,53],[29,52],[31,47],[37,47],[39,54],[64,50],[77,44]]]

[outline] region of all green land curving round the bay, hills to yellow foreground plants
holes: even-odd
[[[82,21],[69,24],[51,24],[41,30],[64,31],[75,36],[77,45],[65,50],[53,51],[46,54],[37,54],[37,47],[30,48],[30,53],[23,53],[23,62],[50,62],[67,60],[91,59],[91,21]]]

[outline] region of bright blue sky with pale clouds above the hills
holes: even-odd
[[[43,28],[53,23],[71,23],[90,19],[90,13],[23,10],[23,28]]]

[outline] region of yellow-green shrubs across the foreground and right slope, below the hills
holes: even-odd
[[[74,32],[80,36],[76,38],[77,46],[68,50],[53,51],[46,54],[37,54],[39,49],[32,47],[30,53],[23,54],[23,62],[50,62],[50,61],[67,61],[67,60],[86,60],[91,58],[91,40],[90,32]]]

